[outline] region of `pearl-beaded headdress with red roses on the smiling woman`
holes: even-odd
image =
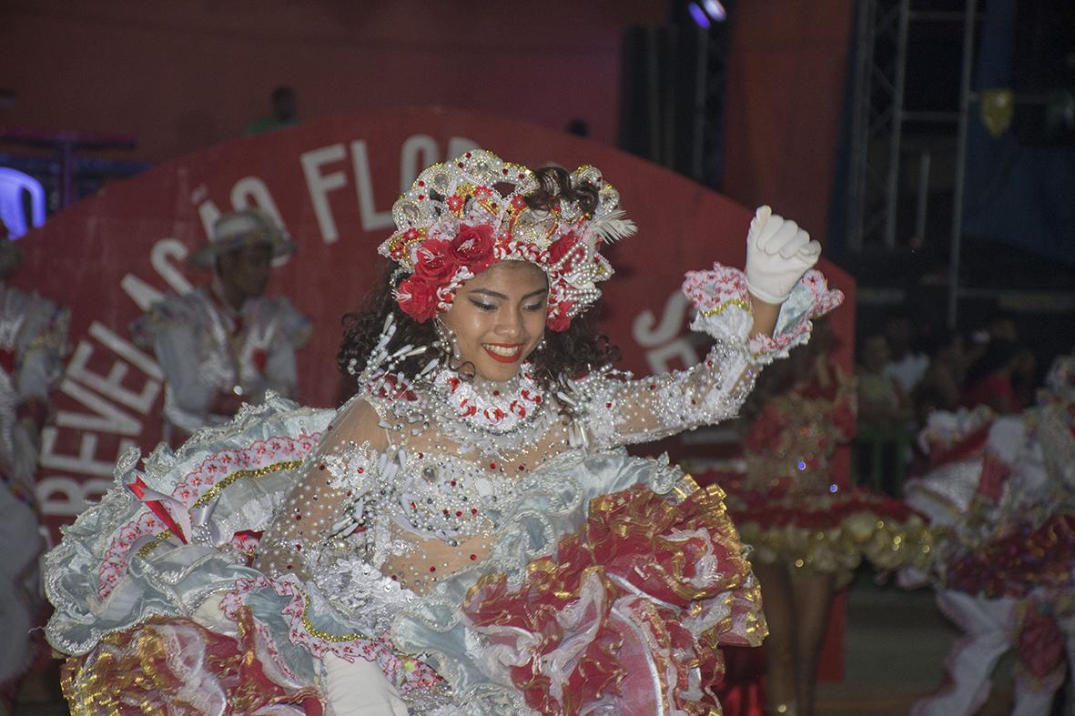
[[[408,273],[396,288],[400,307],[422,323],[452,307],[455,292],[498,261],[529,261],[548,278],[547,326],[562,331],[601,296],[613,274],[605,242],[634,233],[617,209],[619,192],[584,166],[572,187],[592,184],[597,205],[560,198],[549,211],[531,209],[534,173],[484,149],[426,169],[392,205],[396,232],[377,249]]]

